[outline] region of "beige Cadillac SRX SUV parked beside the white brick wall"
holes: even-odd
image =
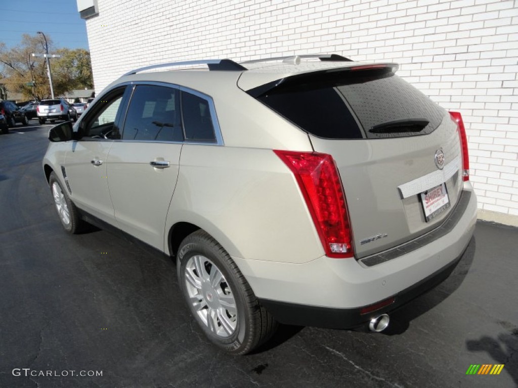
[[[276,322],[384,330],[477,218],[460,114],[395,64],[274,59],[128,72],[50,130],[42,163],[66,231],[174,257],[200,329],[234,354]],[[208,69],[143,71],[193,64]]]

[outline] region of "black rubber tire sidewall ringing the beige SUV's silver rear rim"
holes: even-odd
[[[224,255],[218,254],[220,252],[213,252],[210,246],[199,240],[198,238],[187,237],[184,242],[180,245],[177,255],[177,272],[178,272],[178,284],[182,290],[182,294],[186,303],[189,306],[192,316],[198,323],[200,329],[205,335],[215,344],[224,349],[229,353],[239,353],[243,346],[246,346],[249,337],[250,327],[250,316],[246,311],[246,301],[242,289],[232,273],[227,268],[226,261],[228,260]],[[185,265],[189,259],[193,256],[201,255],[208,258],[214,265],[218,267],[229,287],[234,295],[237,308],[237,324],[235,332],[228,338],[221,338],[212,333],[209,328],[199,320],[196,312],[194,311],[190,301],[189,294],[185,286]]]

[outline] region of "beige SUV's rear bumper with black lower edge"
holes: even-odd
[[[447,278],[473,235],[477,200],[465,183],[467,205],[448,233],[389,261],[366,266],[321,257],[304,264],[234,258],[255,295],[282,323],[348,328],[392,311]],[[469,198],[468,198],[469,197]],[[394,297],[370,314],[363,307]]]

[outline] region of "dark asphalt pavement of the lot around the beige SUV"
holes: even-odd
[[[229,356],[189,317],[174,261],[68,235],[41,168],[51,126],[0,135],[0,387],[515,387],[518,229],[479,221],[452,275],[385,333],[281,326]],[[503,364],[499,375],[466,375]]]

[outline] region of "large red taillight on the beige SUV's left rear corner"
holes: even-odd
[[[328,257],[353,257],[346,198],[333,157],[317,152],[274,152],[293,172]]]

